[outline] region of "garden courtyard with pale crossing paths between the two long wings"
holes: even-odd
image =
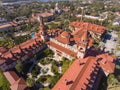
[[[56,60],[54,53],[47,48],[33,60],[27,73],[27,79],[33,79],[34,86],[40,90],[50,90],[72,62],[66,58],[62,58],[60,61]]]

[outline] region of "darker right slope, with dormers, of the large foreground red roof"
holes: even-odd
[[[89,90],[92,89],[93,83],[95,81],[95,79],[93,79],[93,76],[91,76],[91,74],[93,72],[96,71],[97,75],[98,73],[98,68],[97,66],[97,62],[95,60],[95,57],[88,57],[87,58],[87,62],[85,63],[84,67],[82,68],[82,70],[79,72],[78,77],[75,79],[75,82],[73,83],[72,87],[70,88],[70,90]],[[95,76],[96,77],[96,76]],[[89,81],[93,80],[93,83],[89,84]],[[89,87],[87,87],[86,85],[89,85]]]

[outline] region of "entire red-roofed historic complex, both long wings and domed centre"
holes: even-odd
[[[76,58],[52,90],[97,90],[102,75],[114,73],[114,57],[106,53],[93,56],[87,54],[94,40],[100,38],[105,32],[105,27],[76,21],[70,24],[71,32],[61,29],[46,30],[43,18],[37,19],[40,22],[40,31],[34,38],[9,50],[1,47],[0,69],[2,71],[14,68],[17,60],[22,62],[33,60],[34,55],[48,46],[59,60],[62,57],[70,60]]]

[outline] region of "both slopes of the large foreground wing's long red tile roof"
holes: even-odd
[[[95,57],[88,57],[75,60],[52,90],[80,90],[82,88],[86,90],[85,84],[89,83],[87,79],[91,79],[91,73],[97,65],[94,59]]]

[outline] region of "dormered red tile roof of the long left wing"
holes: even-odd
[[[21,43],[20,45],[11,48],[8,52],[3,53],[1,55],[1,57],[3,58],[2,60],[7,60],[6,63],[9,65],[14,61],[18,60],[18,58],[21,58],[23,54],[31,55],[32,49],[31,51],[28,49],[30,49],[31,47],[32,48],[34,47],[34,49],[36,49],[38,47],[37,45],[40,46],[40,44],[37,43],[40,41],[41,41],[40,38],[36,38],[36,39],[30,39],[24,43]],[[23,52],[21,51],[21,49]]]

